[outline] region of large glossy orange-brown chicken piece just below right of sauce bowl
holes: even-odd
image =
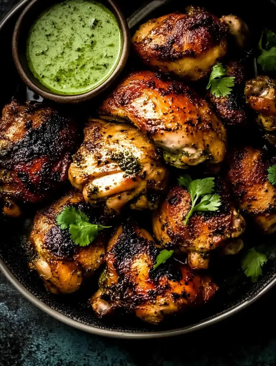
[[[205,100],[167,75],[133,72],[103,102],[100,114],[129,119],[177,168],[224,159],[226,131],[220,120]]]

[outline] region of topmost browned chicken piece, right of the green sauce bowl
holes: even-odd
[[[147,66],[198,80],[227,52],[227,25],[195,7],[148,20],[132,38],[133,48]]]

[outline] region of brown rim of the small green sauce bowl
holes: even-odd
[[[126,22],[126,19],[124,15],[122,14],[122,11],[118,7],[116,3],[114,3],[113,0],[106,0],[108,4],[112,8],[113,14],[117,17],[119,27],[122,32],[122,51],[121,56],[118,60],[117,65],[115,66],[114,70],[111,72],[111,74],[107,77],[106,80],[104,80],[100,85],[96,86],[94,89],[89,90],[82,94],[72,94],[72,95],[63,95],[63,94],[56,94],[48,89],[43,90],[41,89],[36,83],[34,83],[29,76],[27,75],[24,67],[22,66],[19,52],[18,52],[18,41],[19,41],[19,35],[21,31],[21,26],[23,20],[28,16],[29,11],[33,8],[35,4],[37,4],[39,1],[42,0],[29,0],[29,1],[22,1],[21,4],[23,7],[23,4],[27,5],[25,8],[23,8],[23,11],[19,15],[19,18],[17,19],[14,27],[14,31],[12,34],[12,57],[14,59],[14,63],[16,66],[16,69],[18,71],[19,76],[23,80],[23,82],[36,94],[40,95],[43,98],[47,98],[49,100],[58,102],[58,103],[79,103],[83,101],[87,101],[89,99],[92,99],[93,97],[96,97],[100,93],[102,93],[104,90],[107,89],[108,86],[111,85],[115,81],[115,79],[119,76],[123,68],[125,67],[125,64],[128,60],[129,52],[130,52],[130,32],[128,28],[128,24]],[[100,2],[100,0],[99,0]],[[18,7],[15,7],[18,9]],[[14,9],[15,9],[14,8]],[[47,4],[45,6],[47,8]],[[8,14],[9,15],[9,14]],[[7,15],[7,16],[8,16]],[[3,19],[3,21],[7,20],[6,18]]]

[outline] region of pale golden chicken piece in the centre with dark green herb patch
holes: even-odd
[[[100,119],[89,120],[69,169],[85,201],[105,201],[115,213],[130,201],[132,209],[155,209],[167,178],[156,147],[137,128]]]

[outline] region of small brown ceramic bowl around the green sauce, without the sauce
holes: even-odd
[[[34,20],[44,10],[46,10],[52,4],[58,3],[61,0],[32,0],[29,5],[23,10],[19,16],[12,35],[12,56],[14,58],[15,66],[21,76],[22,80],[27,86],[40,96],[53,100],[59,103],[78,103],[88,99],[91,99],[102,91],[104,91],[112,82],[117,78],[122,69],[124,68],[129,56],[130,48],[130,33],[129,28],[122,14],[121,10],[112,0],[97,0],[103,3],[113,14],[115,15],[119,27],[122,32],[122,52],[117,66],[108,78],[102,82],[102,84],[96,86],[94,89],[87,91],[83,94],[65,95],[58,94],[42,85],[38,79],[34,77],[29,69],[26,58],[26,41],[27,36]]]

